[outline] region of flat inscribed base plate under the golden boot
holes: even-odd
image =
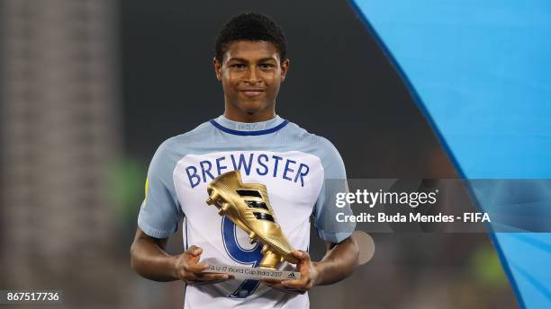
[[[212,272],[218,274],[228,274],[236,279],[272,279],[272,280],[298,280],[301,273],[298,271],[250,268],[246,266],[233,265],[209,265],[203,272]]]

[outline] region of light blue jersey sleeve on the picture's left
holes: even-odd
[[[141,203],[138,226],[151,237],[167,238],[176,233],[183,216],[172,176],[176,161],[176,154],[166,141],[158,147],[149,164],[146,197]]]

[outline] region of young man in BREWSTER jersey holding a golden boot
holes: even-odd
[[[216,77],[225,111],[158,147],[149,166],[146,198],[131,246],[132,268],[157,281],[184,280],[185,308],[308,308],[306,292],[348,277],[357,265],[354,226],[335,220],[335,192],[347,190],[340,155],[330,142],[276,115],[276,96],[289,60],[285,37],[264,15],[234,17],[219,33]],[[260,245],[227,217],[207,207],[206,187],[239,170],[245,183],[267,187],[276,220],[289,242],[299,280],[258,282],[203,273],[209,264],[257,266]],[[348,209],[349,210],[349,209]],[[164,251],[184,216],[185,252]],[[327,243],[319,262],[308,254],[310,218]]]

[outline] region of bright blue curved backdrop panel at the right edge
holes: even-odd
[[[479,207],[543,201],[537,216],[551,218],[549,181],[537,181],[551,178],[551,2],[351,4],[462,177],[534,180],[520,200],[507,185],[473,190]],[[551,308],[551,234],[491,236],[520,306]]]

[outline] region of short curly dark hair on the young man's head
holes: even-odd
[[[216,38],[216,59],[222,62],[230,43],[236,40],[265,40],[276,46],[280,59],[286,58],[285,34],[271,18],[260,13],[241,13],[226,22]]]

